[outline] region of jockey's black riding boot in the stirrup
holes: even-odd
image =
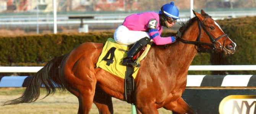
[[[143,49],[149,43],[150,39],[148,37],[142,38],[137,41],[131,49],[127,52],[127,56],[123,59],[123,65],[131,67],[140,67],[139,63],[134,62],[133,57],[138,54],[139,51]]]

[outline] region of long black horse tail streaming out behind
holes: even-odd
[[[65,87],[62,84],[58,76],[58,67],[65,55],[50,60],[41,70],[39,70],[31,79],[28,87],[24,91],[23,95],[14,100],[6,101],[4,105],[16,105],[19,103],[31,103],[36,101],[40,96],[40,87],[45,87],[48,95],[55,93],[56,88],[61,92],[65,91]],[[45,98],[44,97],[44,98]],[[42,99],[44,99],[42,98]]]

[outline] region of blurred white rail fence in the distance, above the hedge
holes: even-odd
[[[209,15],[214,17],[214,20],[217,19],[225,19],[225,18],[236,18],[236,17],[246,17],[246,16],[256,16],[256,11],[207,11]],[[84,20],[84,24],[97,24],[97,23],[123,23],[123,20],[126,16],[129,16],[132,13],[120,13],[120,14],[73,14],[74,16],[94,16],[94,19]],[[190,12],[181,12],[178,21],[185,21],[190,17]],[[79,19],[68,19],[66,14],[58,14],[56,23],[58,25],[61,24],[80,24],[81,21]],[[193,15],[194,16],[194,15]],[[37,22],[37,19],[39,22]],[[53,24],[53,16],[52,15],[41,15],[40,17],[36,17],[36,15],[25,15],[25,16],[0,16],[0,26],[3,25],[47,25]]]

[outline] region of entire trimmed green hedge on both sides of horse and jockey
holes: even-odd
[[[256,65],[256,17],[218,20],[236,52],[198,52],[191,65]],[[43,66],[84,42],[105,43],[113,32],[0,37],[0,66]],[[256,74],[256,71],[189,71],[189,74]]]

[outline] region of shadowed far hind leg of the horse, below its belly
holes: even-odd
[[[97,106],[99,114],[113,114],[112,97],[99,87],[96,87],[93,103]]]

